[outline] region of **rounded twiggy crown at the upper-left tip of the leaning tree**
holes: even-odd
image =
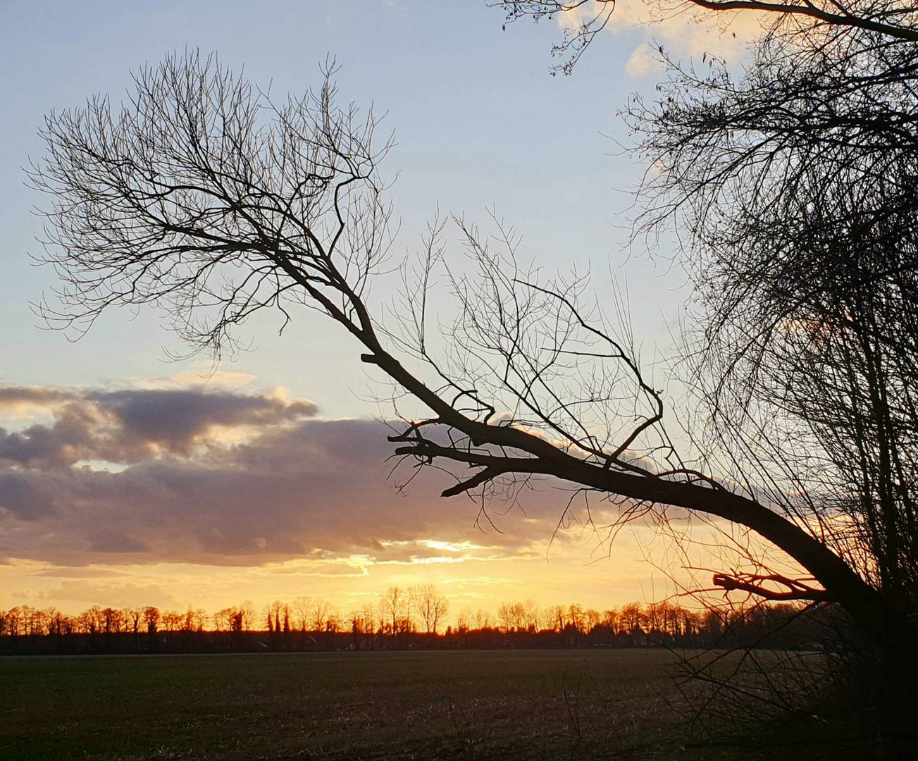
[[[219,353],[255,310],[308,300],[366,330],[367,278],[389,209],[372,110],[317,93],[274,104],[215,56],[168,56],[108,97],[51,113],[32,183],[50,194],[44,261],[63,286],[51,321],[84,330],[105,308],[151,304]]]

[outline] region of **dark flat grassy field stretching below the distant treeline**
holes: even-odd
[[[0,659],[0,758],[670,758],[662,650]]]

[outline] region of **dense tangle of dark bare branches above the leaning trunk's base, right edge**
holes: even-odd
[[[655,161],[638,232],[676,218],[705,451],[900,603],[918,595],[914,43],[773,31],[735,82],[672,67],[635,99]]]

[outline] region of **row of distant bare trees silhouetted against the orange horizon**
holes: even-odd
[[[373,647],[374,639],[405,639],[407,635],[417,634],[436,639],[441,632],[467,639],[467,635],[474,632],[490,632],[501,635],[504,639],[500,642],[508,643],[521,642],[522,635],[530,635],[530,640],[532,635],[543,635],[548,643],[549,635],[564,634],[568,644],[583,638],[605,644],[612,641],[619,644],[710,644],[731,633],[733,639],[749,639],[749,632],[765,632],[769,627],[774,628],[776,621],[798,616],[800,610],[799,605],[759,604],[749,609],[695,611],[664,601],[647,605],[632,602],[600,612],[584,609],[577,603],[543,608],[530,598],[501,603],[497,616],[466,606],[459,611],[452,626],[445,626],[449,600],[435,585],[423,584],[412,588],[387,588],[375,602],[352,610],[349,617],[342,616],[324,599],[307,597],[298,597],[292,602],[274,600],[261,610],[251,600],[246,600],[239,606],[213,614],[191,607],[179,612],[161,611],[151,606],[116,609],[96,605],[69,616],[55,608],[39,610],[24,605],[0,610],[0,635],[261,632],[276,640],[278,636],[297,632],[304,635],[351,633],[355,642],[363,643],[361,647]],[[808,636],[799,633],[797,638]],[[815,639],[815,635],[812,638]]]

